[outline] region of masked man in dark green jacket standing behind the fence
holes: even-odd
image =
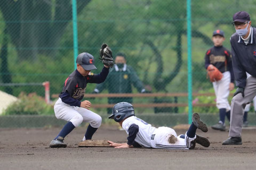
[[[146,92],[143,83],[130,65],[126,64],[126,56],[123,53],[117,53],[115,57],[114,67],[109,70],[108,77],[105,82],[97,84],[93,93],[98,94],[105,88],[109,94],[129,94],[132,92],[132,84],[139,92]],[[110,97],[109,104],[116,104],[122,101],[132,103],[132,97]],[[108,114],[112,113],[112,109],[108,108]]]

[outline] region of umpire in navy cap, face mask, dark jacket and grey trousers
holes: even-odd
[[[256,28],[250,15],[239,11],[233,16],[236,29],[230,38],[236,92],[231,101],[229,138],[222,145],[242,145],[243,114],[246,104],[256,96]],[[252,76],[246,79],[246,72]]]

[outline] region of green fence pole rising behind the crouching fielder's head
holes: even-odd
[[[76,69],[76,58],[78,55],[76,0],[72,0],[72,14],[73,14],[74,69]]]

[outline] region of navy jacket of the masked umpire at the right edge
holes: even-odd
[[[230,38],[231,58],[237,87],[246,86],[246,72],[256,78],[256,28],[251,27],[249,43],[234,33]]]

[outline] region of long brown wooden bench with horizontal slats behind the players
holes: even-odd
[[[194,97],[196,96],[215,96],[214,93],[193,93]],[[232,96],[233,94],[230,94]],[[59,95],[54,94],[52,98],[58,98]],[[85,98],[107,98],[107,97],[140,97],[140,98],[149,98],[149,97],[188,97],[188,93],[149,93],[149,94],[85,94]],[[133,103],[134,107],[186,107],[187,103]],[[94,108],[111,108],[114,104],[93,104]],[[203,104],[196,103],[193,106],[202,106],[202,107],[210,107],[216,106],[216,104]]]

